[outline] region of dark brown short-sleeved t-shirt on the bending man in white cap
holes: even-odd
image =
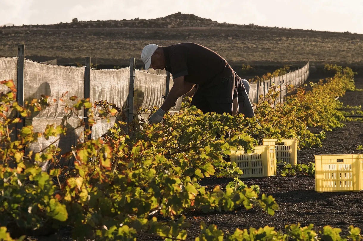
[[[174,79],[184,76],[184,80],[189,83],[207,84],[229,67],[222,56],[196,43],[178,43],[163,47],[163,50],[165,69]]]

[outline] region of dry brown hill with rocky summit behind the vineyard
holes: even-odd
[[[313,28],[313,26],[311,26]],[[363,34],[226,24],[180,12],[151,20],[78,21],[0,28],[0,56],[58,63],[84,62],[126,66],[130,57],[142,67],[140,52],[149,43],[167,46],[195,42],[222,55],[232,66],[363,65]]]

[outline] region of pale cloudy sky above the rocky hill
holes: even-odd
[[[176,12],[221,23],[363,34],[363,0],[0,0],[0,25],[151,19]]]

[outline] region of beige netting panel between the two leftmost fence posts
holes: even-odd
[[[24,101],[49,96],[49,106],[33,116],[25,118],[26,125],[32,125],[35,132],[44,132],[47,124],[67,128],[66,135],[58,135],[46,140],[44,137],[30,144],[30,150],[41,152],[50,144],[62,149],[61,153],[71,150],[72,145],[83,142],[83,129],[80,120],[84,118],[84,110],[69,111],[66,105],[72,107],[76,101],[69,100],[71,96],[84,98],[84,67],[67,67],[42,64],[31,60],[24,62]],[[68,93],[67,93],[68,92]],[[48,163],[44,164],[47,168]]]

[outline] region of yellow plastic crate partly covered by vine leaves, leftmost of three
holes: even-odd
[[[244,150],[232,151],[231,161],[237,163],[242,170],[242,178],[271,177],[276,175],[276,159],[274,145],[257,145],[253,153]]]

